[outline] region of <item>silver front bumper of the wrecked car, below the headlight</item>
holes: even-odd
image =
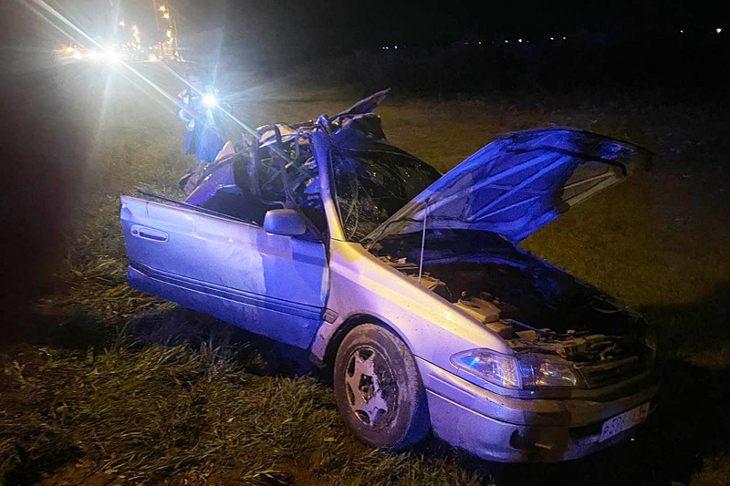
[[[630,436],[600,441],[606,419],[651,400],[655,377],[591,398],[507,398],[416,358],[437,437],[485,460],[553,462],[578,459]],[[650,408],[650,413],[653,406]]]

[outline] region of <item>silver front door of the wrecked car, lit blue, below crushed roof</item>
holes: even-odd
[[[190,206],[121,197],[130,286],[306,348],[328,295],[325,246]]]

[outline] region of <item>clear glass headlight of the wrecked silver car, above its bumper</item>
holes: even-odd
[[[488,349],[472,349],[451,357],[455,367],[464,369],[504,388],[582,388],[578,371],[559,357],[543,355],[502,355]]]

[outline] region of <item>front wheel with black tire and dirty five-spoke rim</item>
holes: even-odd
[[[333,378],[339,411],[366,444],[401,450],[431,429],[411,350],[385,327],[352,329],[339,346]]]

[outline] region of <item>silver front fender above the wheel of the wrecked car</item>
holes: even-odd
[[[360,243],[330,242],[328,312],[333,322],[319,327],[311,346],[313,361],[324,363],[328,346],[353,317],[381,321],[401,337],[416,357],[454,370],[449,358],[485,347],[512,354],[504,340],[454,305],[370,254]]]

